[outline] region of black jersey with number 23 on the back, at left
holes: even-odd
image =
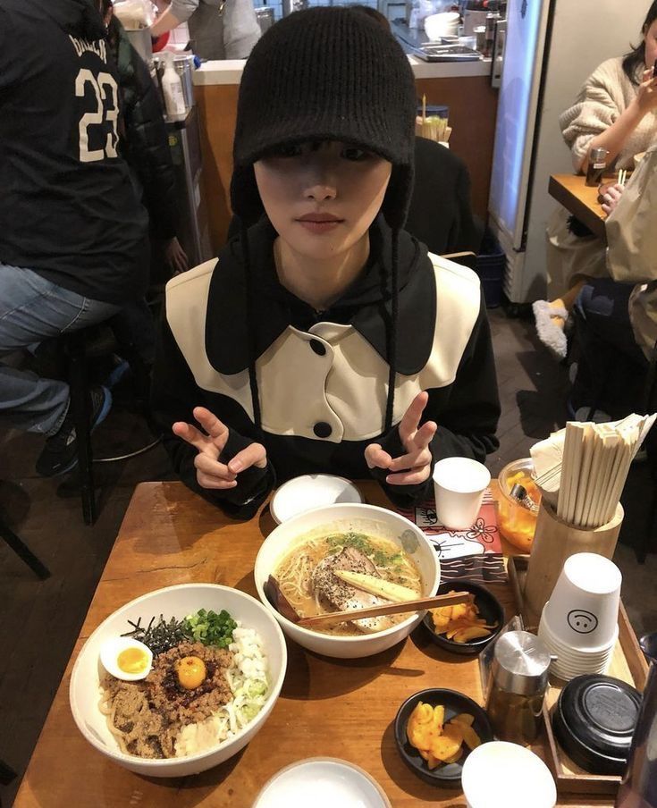
[[[117,87],[91,0],[0,0],[0,261],[120,304],[146,287],[147,213]]]

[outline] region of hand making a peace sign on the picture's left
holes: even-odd
[[[234,488],[240,471],[252,466],[266,467],[267,455],[262,443],[249,443],[228,463],[220,462],[219,458],[228,441],[228,427],[205,407],[195,407],[194,417],[207,434],[185,421],[176,421],[172,429],[173,434],[198,449],[194,466],[198,484],[202,488]]]

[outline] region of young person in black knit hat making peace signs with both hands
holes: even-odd
[[[235,516],[322,471],[409,505],[436,460],[498,445],[476,274],[403,230],[416,104],[400,46],[349,8],[291,14],[248,58],[232,207],[266,217],[169,282],[153,383],[173,467]]]

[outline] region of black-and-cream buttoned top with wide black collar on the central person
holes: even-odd
[[[223,249],[216,268],[198,267],[169,282],[166,318],[156,356],[153,408],[164,446],[184,483],[240,518],[250,518],[274,486],[292,476],[327,472],[350,479],[375,476],[393,502],[408,507],[431,491],[389,485],[370,472],[364,451],[382,442],[402,454],[397,424],[420,390],[428,390],[423,421],[438,432],[434,461],[461,455],[484,460],[498,443],[500,415],[493,349],[476,275],[436,257],[400,233],[397,385],[391,433],[383,434],[386,403],[390,231],[379,217],[370,230],[366,270],[332,307],[316,312],[278,282],[266,220],[248,231],[257,290],[249,321],[240,242]],[[257,356],[263,429],[253,423],[248,341]],[[236,488],[201,488],[197,450],[171,432],[208,408],[230,432],[223,461],[248,442],[265,444],[266,470],[238,476]]]

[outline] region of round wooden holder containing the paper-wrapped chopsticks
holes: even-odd
[[[545,499],[541,501],[525,580],[524,599],[529,627],[538,626],[543,606],[550,599],[561,569],[571,555],[594,552],[606,559],[613,557],[623,516],[623,507],[619,503],[606,525],[582,529],[560,519]]]

